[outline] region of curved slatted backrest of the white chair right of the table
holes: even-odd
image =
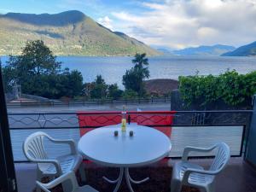
[[[230,147],[226,143],[218,143],[215,150],[216,154],[210,170],[220,172],[230,160]]]

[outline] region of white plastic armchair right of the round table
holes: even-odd
[[[215,158],[209,170],[190,163],[189,152],[215,151]],[[230,147],[225,143],[218,143],[211,148],[184,148],[182,161],[177,162],[172,170],[171,192],[180,192],[183,184],[201,189],[201,191],[214,192],[214,177],[221,172],[230,160]]]

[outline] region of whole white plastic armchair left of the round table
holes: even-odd
[[[58,156],[55,159],[49,159],[44,149],[45,137],[52,143],[68,144],[71,153]],[[38,164],[38,181],[41,181],[42,177],[55,178],[69,171],[76,172],[78,169],[82,181],[85,181],[84,164],[82,163],[83,157],[78,153],[72,139],[54,139],[46,133],[38,131],[26,138],[23,144],[23,151],[28,160]],[[39,190],[37,189],[37,191]]]

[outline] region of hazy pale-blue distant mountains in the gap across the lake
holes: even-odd
[[[212,46],[199,46],[199,47],[191,47],[180,50],[173,50],[172,53],[175,55],[208,55],[215,56],[221,55],[228,51],[232,51],[236,49],[233,46],[216,44]]]

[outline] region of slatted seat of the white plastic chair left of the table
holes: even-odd
[[[69,172],[74,170],[75,172],[79,169],[79,165],[81,164],[83,158],[80,154],[67,154],[61,155],[56,158],[61,165],[62,173]],[[44,175],[55,175],[56,168],[51,163],[39,163],[38,168],[43,172]]]

